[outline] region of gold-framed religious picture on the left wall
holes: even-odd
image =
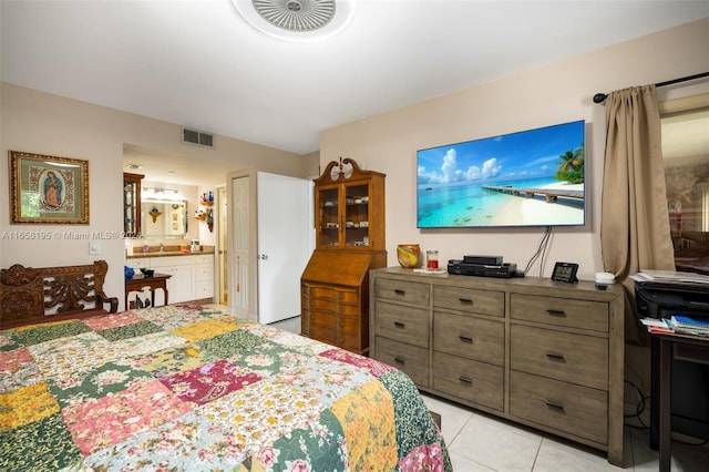
[[[89,161],[9,151],[10,223],[89,224]]]

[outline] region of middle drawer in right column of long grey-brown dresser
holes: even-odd
[[[553,329],[511,326],[510,367],[608,389],[608,340]]]

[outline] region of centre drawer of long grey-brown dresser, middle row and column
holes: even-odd
[[[505,326],[502,321],[433,312],[433,349],[504,366]]]

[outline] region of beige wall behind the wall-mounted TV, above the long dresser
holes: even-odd
[[[709,21],[705,20],[349,123],[321,133],[320,165],[325,168],[343,156],[387,174],[389,265],[397,265],[397,244],[418,243],[422,249],[439,249],[441,260],[500,255],[524,268],[543,228],[417,229],[417,150],[585,120],[587,225],[554,229],[543,275],[551,274],[554,261],[565,260],[580,265],[580,278],[593,279],[603,269],[599,208],[605,107],[592,98],[597,92],[709,71],[708,44]],[[658,89],[658,96],[672,92],[672,88]],[[530,275],[538,274],[535,264]]]

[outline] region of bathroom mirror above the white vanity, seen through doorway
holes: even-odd
[[[142,198],[141,214],[145,237],[184,238],[187,235],[187,201]]]

